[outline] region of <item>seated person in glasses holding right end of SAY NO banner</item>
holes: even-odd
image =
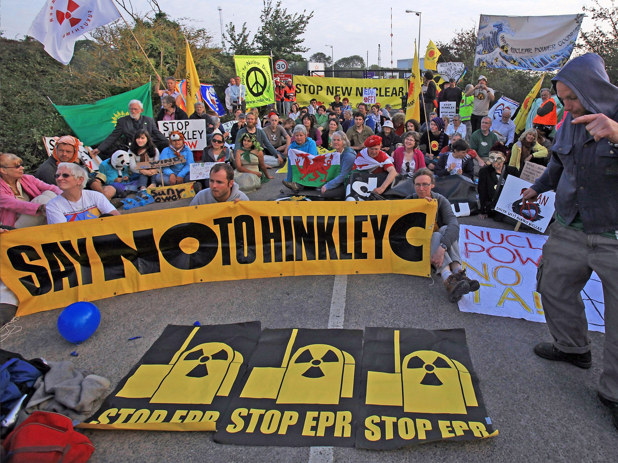
[[[426,199],[430,202],[436,199],[438,201],[436,212],[438,230],[434,230],[431,234],[431,265],[436,269],[436,273],[442,275],[444,287],[449,294],[449,301],[457,302],[464,294],[480,288],[479,283],[476,280],[470,280],[465,270],[462,270],[457,217],[449,200],[431,191],[435,186],[431,170],[419,169],[414,173],[413,178],[416,193],[405,199]]]

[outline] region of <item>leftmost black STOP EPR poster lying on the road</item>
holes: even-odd
[[[260,329],[260,322],[167,325],[80,427],[214,431],[245,372]]]

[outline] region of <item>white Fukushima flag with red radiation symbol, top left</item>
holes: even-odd
[[[47,0],[28,35],[54,59],[69,64],[78,37],[121,17],[112,0]]]

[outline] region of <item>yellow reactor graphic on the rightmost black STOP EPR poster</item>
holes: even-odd
[[[366,404],[403,406],[410,413],[466,414],[478,407],[470,372],[435,351],[416,351],[400,359],[395,331],[395,372],[367,372]]]

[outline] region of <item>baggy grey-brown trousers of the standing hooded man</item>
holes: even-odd
[[[552,223],[536,275],[554,346],[562,352],[590,350],[581,291],[593,270],[603,283],[605,343],[599,392],[618,401],[618,240]]]

